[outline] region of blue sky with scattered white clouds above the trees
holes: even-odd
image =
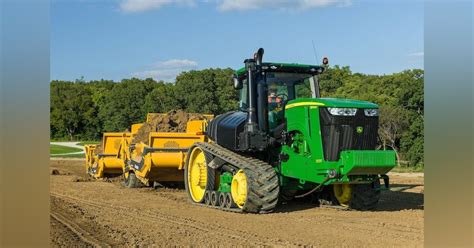
[[[423,68],[422,1],[53,0],[51,79],[121,80],[265,61]],[[318,60],[313,52],[314,41]]]

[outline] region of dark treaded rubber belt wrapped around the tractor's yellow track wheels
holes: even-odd
[[[214,157],[219,157],[237,170],[242,169],[248,183],[247,200],[242,209],[226,209],[202,203],[197,203],[198,205],[234,212],[269,213],[273,211],[278,202],[280,187],[278,176],[271,165],[255,158],[242,156],[217,144],[198,142],[194,146]]]

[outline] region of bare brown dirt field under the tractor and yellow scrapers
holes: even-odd
[[[51,160],[52,247],[422,247],[423,174],[392,174],[377,211],[292,202],[265,215],[194,206],[183,189],[90,180],[83,161]],[[58,173],[56,173],[58,172]]]

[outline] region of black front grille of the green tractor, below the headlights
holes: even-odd
[[[355,116],[333,116],[320,108],[321,135],[324,158],[337,161],[344,150],[374,150],[377,145],[378,117],[367,117],[363,109]],[[362,127],[362,132],[357,128]]]

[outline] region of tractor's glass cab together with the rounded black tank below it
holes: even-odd
[[[229,149],[264,151],[281,143],[286,130],[285,108],[299,98],[319,98],[318,75],[327,65],[262,62],[260,48],[245,67],[234,73],[234,88],[240,90],[239,110],[210,123],[208,135]]]

